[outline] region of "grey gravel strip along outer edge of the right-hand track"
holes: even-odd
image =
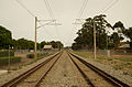
[[[74,54],[74,53],[73,53]],[[76,54],[74,54],[76,55]],[[78,55],[76,55],[78,56]],[[96,66],[97,68],[101,69],[101,70],[105,70],[106,73],[108,73],[109,75],[118,78],[119,80],[128,84],[129,86],[132,86],[132,77],[130,75],[125,75],[123,74],[122,70],[116,70],[113,69],[112,67],[110,67],[109,65],[103,65],[103,64],[100,64],[98,62],[95,62],[94,59],[90,59],[90,58],[85,58],[85,57],[81,57],[81,56],[78,56],[80,58],[82,58],[84,61],[92,64],[94,66]]]

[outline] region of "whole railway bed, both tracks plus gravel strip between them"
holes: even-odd
[[[127,84],[63,51],[6,83],[2,87],[129,87]]]

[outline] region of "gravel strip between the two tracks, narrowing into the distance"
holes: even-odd
[[[47,74],[40,87],[89,87],[66,52]]]

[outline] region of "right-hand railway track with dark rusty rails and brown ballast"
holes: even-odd
[[[67,53],[90,87],[130,87],[77,55],[69,52]]]

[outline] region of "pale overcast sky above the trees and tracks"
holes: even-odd
[[[38,20],[52,20],[62,25],[44,25],[37,29],[37,42],[62,41],[65,46],[70,46],[77,36],[81,24],[75,25],[76,19],[87,19],[98,14],[106,14],[107,21],[114,24],[122,21],[128,29],[132,26],[132,0],[47,0],[52,15],[44,0],[19,0]],[[82,2],[87,1],[84,11]],[[85,2],[86,3],[86,2]],[[113,4],[114,3],[114,4]],[[112,6],[109,8],[109,6]],[[107,11],[105,11],[106,8]],[[31,15],[16,0],[0,0],[0,25],[12,32],[12,37],[34,41],[35,18]],[[82,11],[82,12],[81,12]],[[42,21],[45,24],[50,21]],[[40,26],[40,23],[37,23]]]

